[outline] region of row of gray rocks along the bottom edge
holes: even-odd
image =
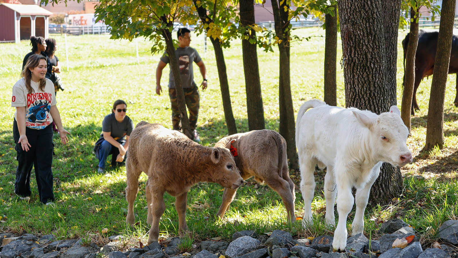
[[[233,241],[202,241],[200,250],[194,245],[191,253],[180,253],[180,238],[175,237],[167,246],[152,243],[143,248],[117,250],[122,236],[110,236],[112,242],[99,247],[95,243],[80,240],[55,241],[54,236],[38,238],[32,234],[14,236],[1,234],[0,258],[458,258],[458,220],[448,220],[438,230],[441,248],[423,250],[414,230],[400,219],[390,220],[380,229],[379,240],[367,239],[358,234],[347,240],[346,253],[332,252],[332,236],[309,239],[293,239],[285,231],[275,230],[270,236],[256,236],[251,230],[236,232]],[[393,242],[409,238],[404,248],[394,247]]]

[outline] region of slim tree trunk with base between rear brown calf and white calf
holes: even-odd
[[[298,157],[295,142],[295,124],[293,99],[291,98],[291,79],[289,74],[289,1],[283,1],[278,6],[277,0],[272,0],[273,18],[275,21],[275,33],[281,39],[278,44],[280,52],[280,78],[278,81],[278,96],[280,108],[280,135],[286,140],[286,152],[290,168],[297,169]],[[286,8],[285,8],[286,7]],[[285,9],[287,11],[285,11]]]

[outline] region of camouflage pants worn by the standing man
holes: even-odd
[[[199,115],[199,90],[197,86],[193,88],[183,88],[185,93],[185,103],[189,111],[189,125],[191,130],[196,129],[197,117]],[[169,89],[170,103],[172,106],[172,125],[174,130],[180,130],[180,110],[178,109],[178,102],[175,89]]]

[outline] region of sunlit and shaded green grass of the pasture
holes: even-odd
[[[294,112],[311,98],[323,98],[324,32],[321,28],[297,31],[303,36],[314,36],[310,41],[294,42],[291,48],[291,90]],[[399,34],[398,52],[398,107],[402,97],[402,47],[400,41],[406,32]],[[70,142],[64,146],[55,135],[53,174],[55,179],[55,205],[44,206],[38,200],[37,186],[32,175],[32,196],[29,202],[14,194],[16,151],[12,139],[14,108],[10,107],[11,88],[19,79],[23,56],[30,51],[28,41],[20,44],[2,44],[0,53],[0,101],[4,103],[4,115],[0,116],[0,231],[55,234],[59,239],[121,234],[138,246],[146,243],[147,209],[145,198],[146,176],[140,178],[139,194],[135,202],[136,221],[130,228],[125,226],[127,202],[125,201],[125,167],[109,168],[108,174],[96,173],[97,159],[92,154],[93,144],[101,132],[102,119],[110,112],[116,99],[128,104],[127,115],[138,123],[142,120],[162,123],[171,127],[169,98],[167,92],[155,94],[155,69],[159,56],[149,52],[151,43],[138,39],[139,63],[136,60],[135,41],[111,40],[109,35],[68,36],[68,59],[65,58],[65,38],[55,36],[59,49],[65,91],[57,95],[57,106],[65,129],[71,132]],[[340,36],[340,35],[339,35]],[[193,35],[191,46],[202,56],[208,70],[209,87],[201,91],[201,110],[198,130],[202,144],[213,146],[227,135],[218,73],[213,49],[207,41],[204,50],[202,36]],[[240,42],[233,42],[224,50],[228,67],[229,87],[234,117],[239,132],[248,130],[246,118],[245,79]],[[338,59],[341,45],[338,40]],[[266,129],[278,131],[278,51],[258,51],[262,98]],[[338,60],[339,61],[339,60]],[[68,65],[68,71],[67,71]],[[196,81],[201,79],[196,74]],[[449,76],[445,99],[445,148],[420,153],[425,142],[425,126],[431,77],[420,84],[417,99],[421,111],[413,118],[412,137],[409,148],[414,152],[415,162],[403,168],[410,176],[404,182],[403,194],[389,206],[370,207],[365,214],[365,233],[377,238],[380,221],[400,217],[419,231],[425,245],[437,238],[438,226],[447,219],[457,219],[458,210],[455,179],[458,167],[458,108],[453,107],[455,75]],[[168,68],[162,77],[166,89]],[[338,106],[345,105],[343,70],[338,66]],[[444,163],[446,163],[444,165]],[[296,183],[296,215],[303,214],[303,201],[299,190],[298,172],[292,171]],[[418,175],[423,177],[417,179]],[[316,197],[312,203],[314,226],[304,230],[301,223],[285,224],[286,212],[281,198],[269,187],[255,187],[253,180],[240,187],[223,221],[215,219],[222,200],[223,188],[217,184],[199,183],[188,194],[187,223],[196,241],[221,236],[230,239],[235,231],[256,230],[258,234],[284,229],[297,237],[333,234],[333,228],[324,226],[323,175],[316,176]],[[174,197],[165,194],[166,210],[160,222],[162,239],[177,235],[178,216],[174,209]],[[337,215],[337,212],[336,212]],[[350,213],[353,219],[354,211]],[[106,233],[104,233],[106,231]],[[95,235],[91,235],[95,234]],[[102,239],[102,240],[100,240]],[[192,244],[189,240],[187,244]],[[128,247],[129,243],[123,245]]]

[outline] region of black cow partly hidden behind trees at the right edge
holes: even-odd
[[[409,43],[409,35],[407,34],[405,39],[402,41],[402,48],[404,51],[404,71],[405,71],[405,55],[407,44]],[[421,80],[426,76],[430,76],[434,69],[434,59],[436,58],[437,48],[437,35],[438,30],[431,29],[420,29],[418,32],[418,46],[417,52],[415,53],[415,82],[414,82],[414,96],[412,99],[412,115],[414,110],[420,110],[415,96],[418,85]],[[404,72],[405,73],[405,72]],[[452,39],[452,52],[450,53],[450,65],[448,67],[448,73],[458,73],[458,35],[453,32]],[[404,74],[405,80],[405,74]],[[455,107],[458,107],[458,76],[456,82],[457,95],[455,97]]]

